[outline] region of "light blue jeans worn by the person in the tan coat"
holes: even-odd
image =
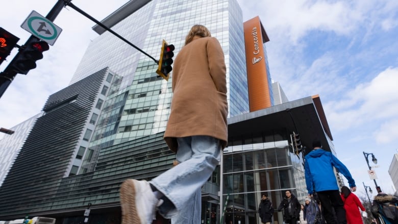
[[[166,198],[159,213],[172,224],[200,224],[202,186],[220,161],[221,145],[210,136],[177,138],[179,164],[150,183]]]

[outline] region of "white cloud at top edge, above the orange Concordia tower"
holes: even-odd
[[[247,11],[257,11],[258,2],[241,2]],[[346,1],[266,1],[263,15],[272,20],[264,20],[266,30],[272,30],[273,36],[285,36],[295,44],[309,31],[331,31],[339,35],[348,35],[356,29],[362,14]],[[247,13],[253,15],[252,13]],[[255,15],[253,15],[255,16]],[[248,18],[247,18],[248,19]],[[260,17],[262,19],[262,17]],[[272,38],[271,38],[272,39]],[[278,38],[279,39],[279,38]]]

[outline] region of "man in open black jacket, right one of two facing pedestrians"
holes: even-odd
[[[281,204],[278,207],[278,211],[283,209],[283,221],[285,223],[296,224],[300,218],[301,205],[299,200],[291,193],[290,190],[286,190],[286,197],[283,198]]]

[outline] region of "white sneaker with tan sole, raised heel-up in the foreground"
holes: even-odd
[[[148,182],[126,180],[120,186],[121,224],[151,224],[162,202]]]

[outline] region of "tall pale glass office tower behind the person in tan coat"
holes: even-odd
[[[143,6],[135,2],[103,22],[154,58],[159,58],[163,39],[176,46],[177,55],[190,28],[203,24],[225,54],[229,116],[248,112],[242,12],[235,0],[146,1]],[[101,35],[87,48],[71,83],[107,65],[121,77],[120,90],[107,96],[92,135],[90,159],[79,173],[94,170],[95,155],[103,147],[165,131],[172,96],[171,80],[158,77],[158,65],[151,58],[101,27],[93,29]],[[172,79],[172,71],[170,76]]]

